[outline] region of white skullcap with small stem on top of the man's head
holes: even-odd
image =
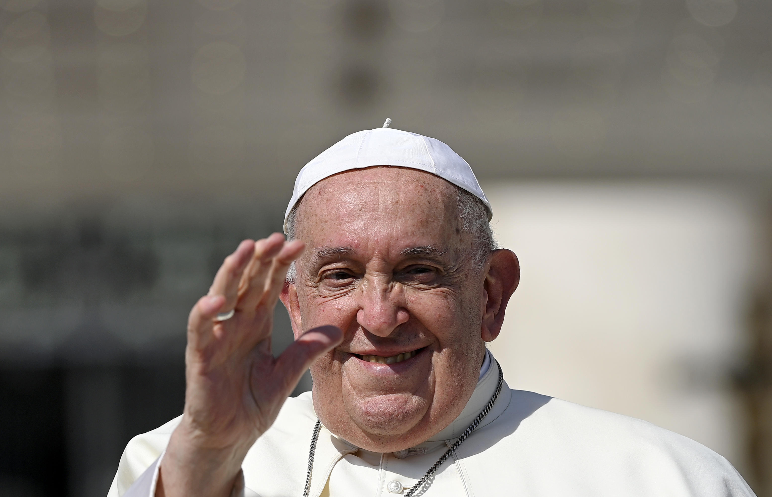
[[[314,184],[333,174],[372,166],[410,167],[442,177],[482,200],[490,221],[493,216],[490,202],[482,193],[472,167],[459,154],[440,140],[391,129],[390,123],[391,119],[387,119],[384,127],[350,134],[303,166],[284,214],[285,233],[289,213]]]

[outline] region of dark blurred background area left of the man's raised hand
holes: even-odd
[[[280,230],[253,205],[215,209],[71,208],[5,228],[0,495],[103,495],[127,441],[181,414],[192,303],[243,238]],[[279,306],[276,353],[291,340]]]

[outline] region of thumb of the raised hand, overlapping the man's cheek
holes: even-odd
[[[276,359],[276,372],[286,381],[286,394],[297,386],[300,377],[323,353],[343,341],[343,332],[337,326],[319,326],[303,333]]]

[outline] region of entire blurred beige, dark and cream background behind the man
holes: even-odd
[[[770,19],[0,0],[0,495],[104,495],[126,441],[181,412],[185,317],[222,257],[386,117],[472,164],[520,255],[492,344],[510,385],[686,434],[772,495]]]

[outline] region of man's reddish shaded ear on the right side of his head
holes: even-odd
[[[482,340],[492,342],[499,336],[504,323],[504,311],[510,297],[520,283],[520,262],[514,252],[507,249],[493,251],[488,273],[482,287]]]

